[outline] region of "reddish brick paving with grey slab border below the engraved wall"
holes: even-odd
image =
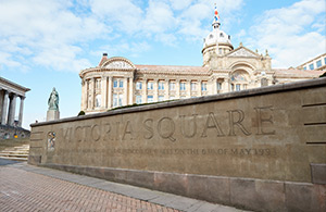
[[[0,159],[0,211],[240,210]]]

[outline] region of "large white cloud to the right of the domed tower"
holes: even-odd
[[[266,11],[251,27],[246,41],[251,48],[268,49],[273,67],[298,66],[325,52],[324,0],[302,0],[288,8]],[[313,27],[319,27],[315,30]]]

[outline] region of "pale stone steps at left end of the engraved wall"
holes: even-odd
[[[13,148],[5,148],[0,151],[0,159],[13,161],[27,161],[29,154],[29,145],[17,146]]]

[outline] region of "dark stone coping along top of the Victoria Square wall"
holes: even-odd
[[[233,91],[233,92],[225,92],[218,95],[211,95],[211,96],[203,96],[203,97],[196,97],[190,99],[181,99],[175,101],[166,101],[166,102],[158,102],[155,104],[145,104],[145,105],[136,105],[131,108],[123,108],[111,110],[108,112],[101,112],[96,114],[88,114],[83,116],[73,116],[66,117],[55,121],[49,122],[40,122],[30,124],[30,127],[35,126],[43,126],[43,125],[51,125],[51,124],[59,124],[65,122],[74,122],[80,120],[89,120],[95,117],[103,117],[103,116],[111,116],[124,113],[133,113],[133,112],[141,112],[141,111],[149,111],[149,110],[156,110],[156,109],[165,109],[165,108],[174,108],[180,105],[188,105],[188,104],[198,104],[198,103],[205,103],[211,101],[223,101],[227,99],[237,99],[243,97],[252,97],[252,96],[260,96],[260,95],[267,95],[267,93],[275,93],[275,92],[283,92],[288,90],[300,90],[304,88],[312,88],[312,87],[321,87],[326,85],[326,78],[316,78],[316,79],[309,79],[309,80],[300,80],[296,83],[288,83],[283,85],[274,85],[274,86],[266,86],[240,91]]]

